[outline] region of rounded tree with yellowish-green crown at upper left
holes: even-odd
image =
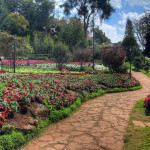
[[[18,13],[10,13],[3,24],[3,30],[9,32],[12,35],[23,36],[27,31],[29,22],[24,16]]]

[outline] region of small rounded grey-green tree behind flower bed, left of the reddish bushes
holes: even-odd
[[[63,64],[71,59],[71,53],[66,45],[59,42],[54,47],[53,57],[55,58],[58,69],[62,70]]]

